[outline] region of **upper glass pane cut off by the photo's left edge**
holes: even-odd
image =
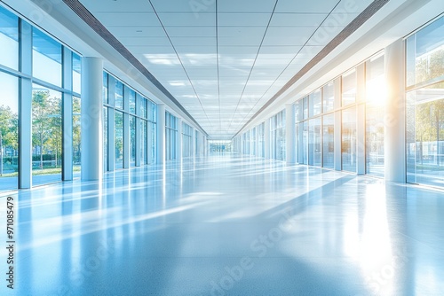
[[[19,70],[19,18],[0,7],[0,65]]]

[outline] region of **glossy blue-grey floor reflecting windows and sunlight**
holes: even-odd
[[[226,154],[14,198],[17,295],[444,291],[444,193],[418,186]]]

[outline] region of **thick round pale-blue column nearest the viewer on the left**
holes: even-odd
[[[82,180],[103,175],[101,58],[82,58]]]

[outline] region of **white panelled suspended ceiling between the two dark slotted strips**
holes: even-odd
[[[210,138],[230,138],[372,1],[80,2]]]

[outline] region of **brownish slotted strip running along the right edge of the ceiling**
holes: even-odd
[[[310,71],[313,66],[316,66],[321,60],[327,55],[337,48],[337,46],[345,41],[350,35],[352,35],[358,28],[360,28],[367,20],[369,20],[375,13],[377,13],[381,8],[385,6],[385,4],[389,3],[390,0],[375,0],[369,6],[361,12],[355,19],[352,20],[350,24],[347,25],[333,40],[331,40],[312,60],[310,60],[297,74],[295,74],[289,82],[287,82],[281,90],[279,90],[272,98],[266,102],[266,105],[263,105],[257,113],[255,113],[247,123],[245,123],[242,129],[245,129],[247,125],[250,124],[258,115],[266,110],[270,105],[274,103],[274,101],[281,96],[286,90],[295,84],[299,79],[301,79],[305,74]],[[242,130],[240,129],[239,132]],[[239,132],[234,135],[237,136]]]

